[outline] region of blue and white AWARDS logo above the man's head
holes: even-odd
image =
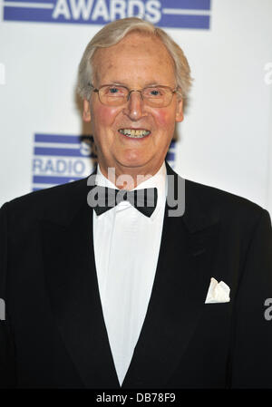
[[[108,24],[137,16],[174,28],[209,29],[210,0],[4,0],[5,21]]]

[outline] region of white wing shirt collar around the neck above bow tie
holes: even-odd
[[[134,189],[144,189],[144,188],[157,188],[158,189],[158,202],[156,209],[151,215],[151,220],[157,217],[157,214],[160,211],[161,205],[165,203],[166,195],[167,195],[167,177],[166,177],[166,165],[165,161],[163,161],[160,170],[156,172],[151,178],[142,181],[136,188]],[[107,179],[100,170],[99,164],[97,164],[97,172],[95,178],[95,184],[100,185],[102,187],[108,187],[117,189],[117,187]],[[134,190],[132,189],[132,190]],[[119,204],[120,205],[120,204]]]

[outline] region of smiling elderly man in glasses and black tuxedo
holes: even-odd
[[[271,387],[270,218],[165,161],[189,85],[141,19],[88,44],[97,169],[1,209],[2,387]]]

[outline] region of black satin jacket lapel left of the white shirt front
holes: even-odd
[[[44,222],[42,236],[56,324],[84,385],[119,387],[96,277],[92,209],[84,203],[68,226]]]

